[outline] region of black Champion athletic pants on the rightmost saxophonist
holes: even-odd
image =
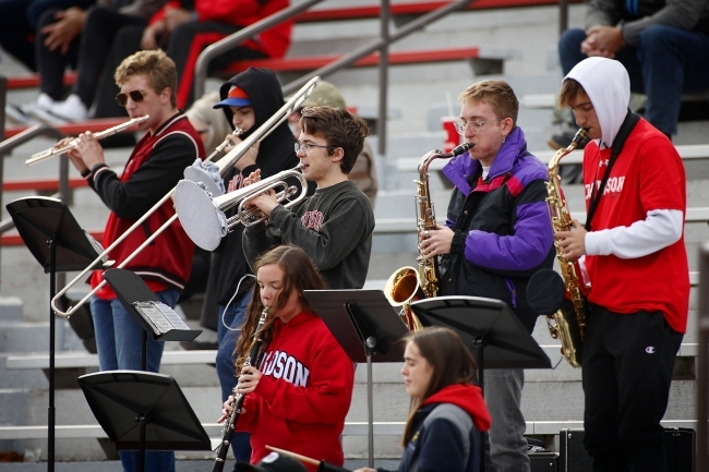
[[[666,472],[660,420],[683,336],[661,312],[592,306],[581,375],[584,444],[594,472]]]

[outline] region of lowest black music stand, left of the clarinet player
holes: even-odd
[[[86,402],[118,450],[212,450],[209,436],[175,378],[141,371],[107,371],[79,377]]]

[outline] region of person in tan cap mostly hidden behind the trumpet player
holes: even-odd
[[[333,108],[341,108],[343,110],[347,109],[345,104],[345,98],[339,93],[337,87],[335,87],[329,82],[320,81],[317,86],[312,94],[302,102],[300,108],[298,108],[290,117],[288,121],[293,125],[296,137],[300,136],[300,110],[305,107],[312,107],[313,105],[327,105]],[[362,152],[357,157],[354,167],[350,171],[348,179],[354,183],[364,192],[372,202],[372,208],[374,208],[374,199],[376,198],[376,191],[378,189],[377,178],[376,178],[376,157],[370,146],[369,142],[364,140],[364,147]]]

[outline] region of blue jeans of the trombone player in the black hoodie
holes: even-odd
[[[247,306],[251,301],[251,290],[247,290],[241,296],[237,296],[226,307],[219,305],[219,319],[217,322],[217,376],[221,386],[221,401],[227,401],[233,388],[237,386],[233,350],[241,331],[231,331],[240,328],[247,319]],[[225,312],[226,308],[226,312]],[[231,452],[238,461],[249,462],[251,459],[251,434],[235,433],[231,439]]]

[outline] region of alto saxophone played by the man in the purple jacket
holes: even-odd
[[[429,166],[433,159],[449,159],[454,156],[467,153],[471,145],[468,143],[453,149],[450,153],[432,150],[421,159],[419,164],[419,180],[416,181],[418,192],[414,195],[416,202],[416,229],[419,240],[423,239],[425,231],[437,229],[435,210],[431,202],[429,190]],[[401,267],[397,269],[386,281],[384,295],[394,306],[401,306],[399,316],[410,330],[421,329],[421,322],[411,312],[410,304],[413,300],[432,299],[438,295],[438,263],[436,257],[426,258],[421,254],[419,243],[418,269],[413,267]]]

